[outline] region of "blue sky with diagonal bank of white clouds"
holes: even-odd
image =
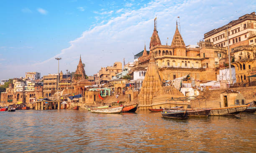
[[[74,72],[81,55],[87,75],[114,62],[133,62],[149,47],[157,17],[162,44],[180,22],[186,45],[256,11],[254,0],[1,0],[0,79]],[[179,17],[179,19],[177,18]]]

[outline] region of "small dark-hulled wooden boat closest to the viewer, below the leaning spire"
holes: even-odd
[[[181,110],[168,110],[168,111],[162,111],[162,116],[165,118],[174,118],[174,119],[186,119],[187,111],[181,111]]]

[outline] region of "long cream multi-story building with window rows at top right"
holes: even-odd
[[[238,20],[229,22],[227,25],[205,33],[204,39],[205,42],[213,42],[213,45],[218,47],[227,47],[229,43],[230,49],[232,49],[238,46],[254,44],[256,41],[255,33],[256,15],[255,12],[252,12],[239,17]]]

